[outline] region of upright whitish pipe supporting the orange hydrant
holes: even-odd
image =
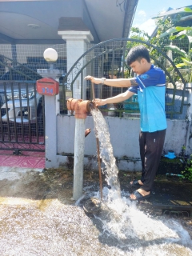
[[[75,118],[74,134],[74,200],[82,197],[86,119]]]

